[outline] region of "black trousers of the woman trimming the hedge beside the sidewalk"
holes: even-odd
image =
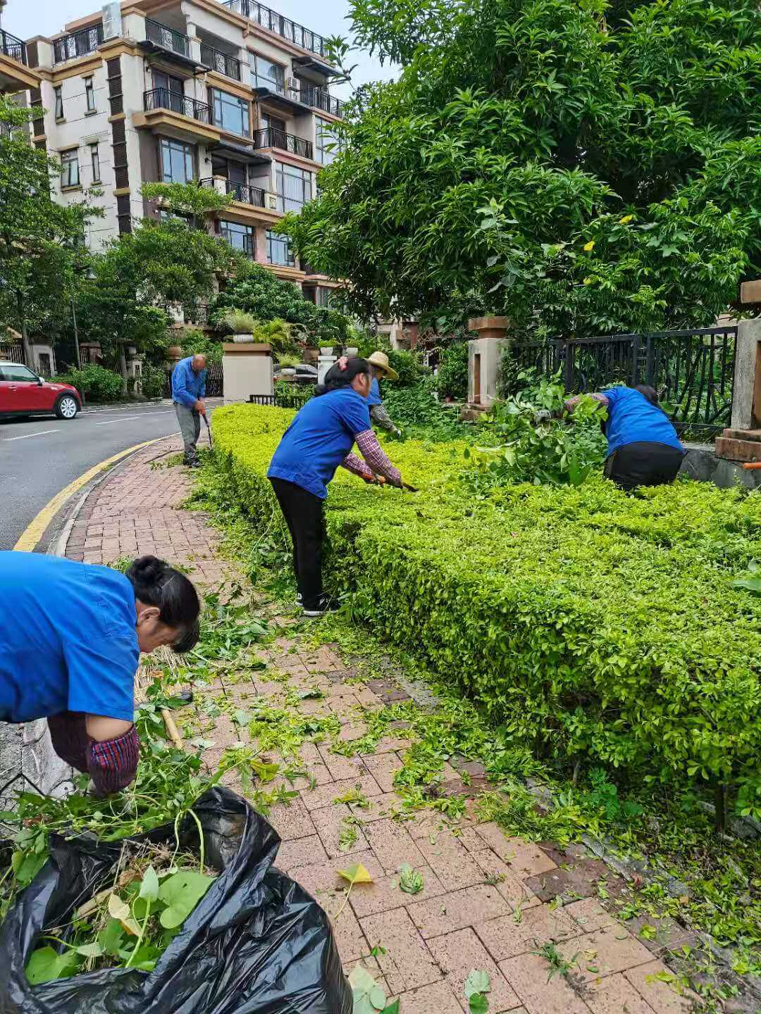
[[[323,594],[324,501],[284,479],[271,479],[293,541],[293,573],[305,609],[316,608]]]

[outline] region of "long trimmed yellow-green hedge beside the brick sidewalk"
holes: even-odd
[[[258,526],[280,524],[265,476],[292,415],[213,416],[220,467]],[[732,581],[761,559],[761,497],[697,483],[627,497],[600,478],[473,499],[463,449],[394,445],[417,495],[339,469],[331,588],[541,754],[728,783],[759,814],[761,597]]]

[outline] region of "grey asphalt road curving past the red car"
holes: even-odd
[[[40,510],[99,461],[134,444],[179,432],[171,405],[95,409],[0,421],[0,550],[11,550]],[[201,445],[206,440],[202,431]]]

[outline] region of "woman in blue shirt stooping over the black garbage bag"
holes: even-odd
[[[41,553],[0,553],[0,722],[47,718],[60,757],[106,795],[137,771],[140,652],[198,640],[193,584],[155,557],[120,574]]]

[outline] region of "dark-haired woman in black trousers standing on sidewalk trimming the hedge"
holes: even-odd
[[[331,607],[322,555],[324,503],[336,468],[341,464],[369,483],[380,476],[402,485],[370,426],[370,370],[366,359],[339,359],[283,434],[267,473],[293,540],[298,601],[307,617]],[[355,441],[364,461],[350,453]]]

